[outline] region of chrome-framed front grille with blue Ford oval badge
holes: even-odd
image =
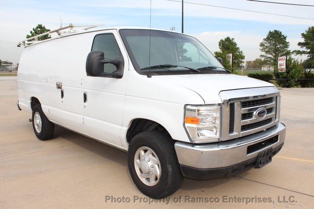
[[[255,134],[279,123],[280,92],[276,87],[226,90],[219,97],[222,141]]]

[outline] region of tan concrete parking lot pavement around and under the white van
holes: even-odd
[[[314,88],[281,90],[287,135],[272,163],[230,179],[184,179],[170,202],[147,203],[127,153],[60,127],[54,139],[38,140],[30,114],[15,105],[15,79],[0,77],[0,208],[314,208]],[[123,196],[130,203],[117,203]],[[219,202],[193,203],[202,197]]]

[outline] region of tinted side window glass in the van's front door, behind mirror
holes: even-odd
[[[93,42],[92,51],[104,51],[105,59],[116,60],[121,55],[119,46],[113,34],[96,35]],[[105,73],[112,73],[117,70],[113,64],[104,64]]]

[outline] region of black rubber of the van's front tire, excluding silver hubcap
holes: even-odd
[[[161,173],[155,186],[147,186],[138,177],[134,157],[140,147],[152,149],[160,162]],[[131,178],[137,188],[145,195],[160,199],[175,193],[183,183],[183,174],[178,163],[174,140],[167,134],[158,131],[147,131],[137,134],[129,145],[128,166]]]

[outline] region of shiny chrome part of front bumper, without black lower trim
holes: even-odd
[[[259,143],[278,135],[278,141],[247,154],[250,145]],[[181,165],[194,168],[220,168],[242,163],[258,156],[259,152],[283,145],[286,127],[282,123],[265,131],[241,137],[238,139],[221,141],[214,144],[190,144],[176,142],[175,149]]]

